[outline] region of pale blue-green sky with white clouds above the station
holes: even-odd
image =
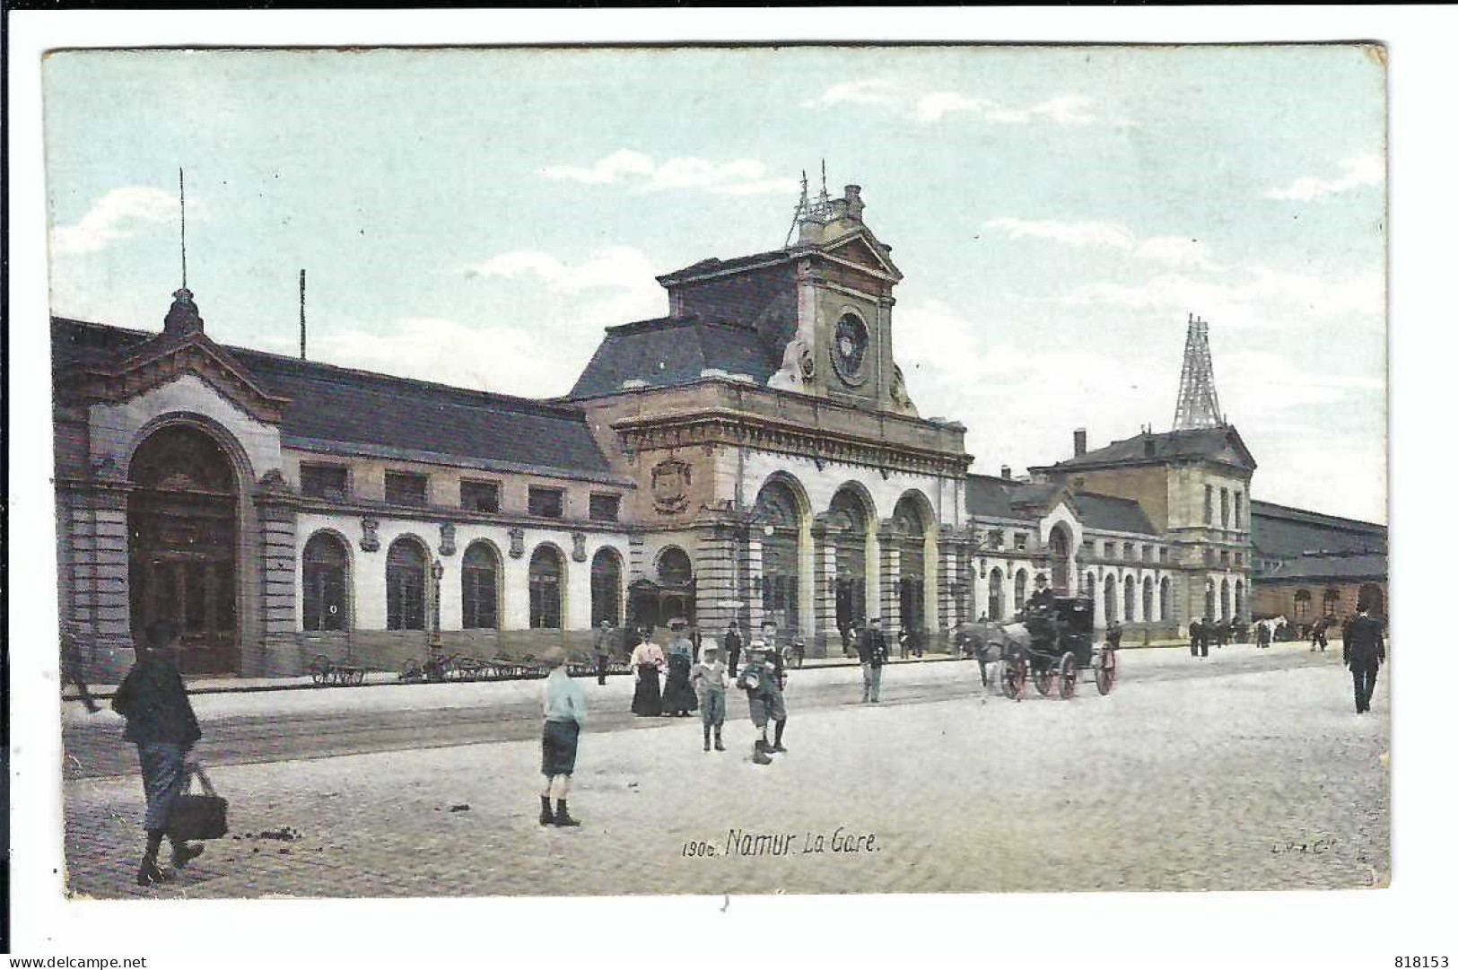
[[[783,245],[802,169],[894,248],[974,471],[1171,426],[1188,314],[1252,496],[1387,521],[1385,70],[1359,47],[60,53],[52,312],[566,392],[653,280]]]

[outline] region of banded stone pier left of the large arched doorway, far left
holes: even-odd
[[[131,486],[112,480],[63,480],[58,522],[67,531],[67,562],[57,563],[70,583],[61,621],[74,623],[86,675],[115,684],[131,668],[131,589],[127,496]]]

